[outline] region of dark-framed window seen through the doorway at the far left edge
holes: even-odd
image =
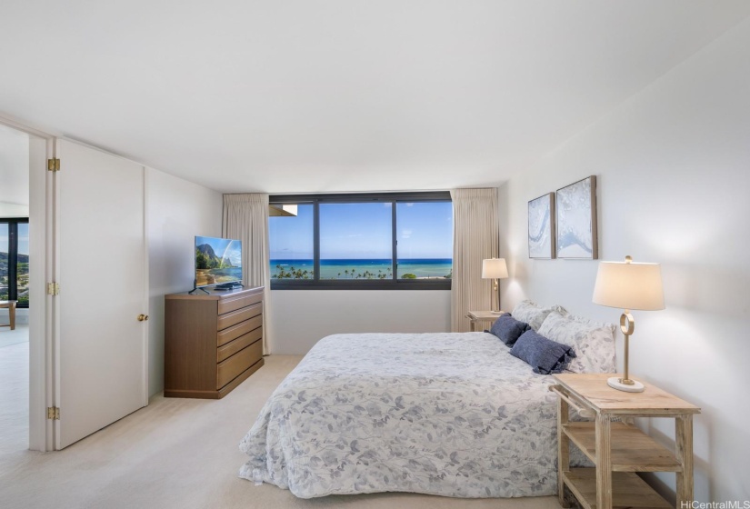
[[[28,219],[0,219],[0,300],[29,305]]]

